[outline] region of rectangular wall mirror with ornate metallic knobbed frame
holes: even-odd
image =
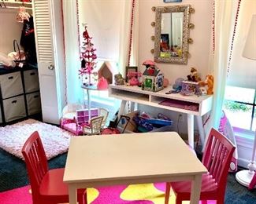
[[[154,61],[173,64],[187,64],[191,5],[153,7],[155,14]]]

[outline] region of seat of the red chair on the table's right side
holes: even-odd
[[[191,194],[191,182],[190,181],[181,181],[181,182],[171,182],[173,191],[176,194],[180,194],[182,198],[189,200]],[[215,198],[217,194],[217,183],[209,173],[202,174],[202,187],[201,194],[207,192],[207,199],[210,200],[210,197]],[[203,194],[202,194],[203,195]],[[204,199],[201,195],[201,199]]]

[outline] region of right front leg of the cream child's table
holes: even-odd
[[[202,184],[202,175],[196,175],[195,180],[191,182],[191,204],[198,204],[200,200],[200,192],[201,192],[201,184]]]

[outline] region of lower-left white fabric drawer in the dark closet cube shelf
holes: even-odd
[[[6,122],[26,117],[24,96],[2,100]]]

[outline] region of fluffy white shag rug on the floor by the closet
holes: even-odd
[[[21,149],[28,137],[35,131],[39,132],[47,159],[68,151],[69,139],[72,137],[72,133],[34,119],[0,127],[0,148],[24,159]]]

